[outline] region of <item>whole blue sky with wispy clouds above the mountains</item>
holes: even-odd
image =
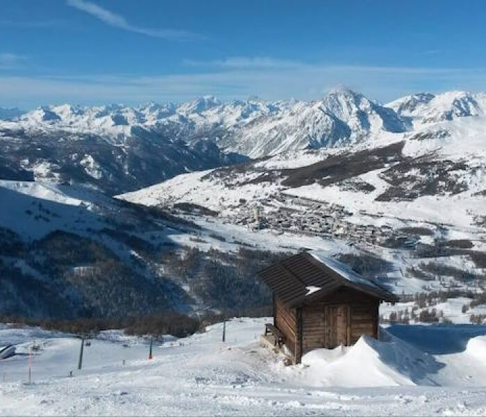
[[[3,0],[0,106],[486,90],[486,1]]]

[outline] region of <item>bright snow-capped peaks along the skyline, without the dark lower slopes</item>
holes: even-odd
[[[62,104],[36,108],[9,120],[0,130],[64,131],[121,138],[153,131],[173,138],[211,138],[226,152],[258,158],[299,149],[346,147],[370,136],[404,133],[461,117],[486,114],[486,93],[420,93],[386,106],[358,92],[335,90],[317,101],[230,101],[201,97],[184,104],[149,103],[83,107]]]

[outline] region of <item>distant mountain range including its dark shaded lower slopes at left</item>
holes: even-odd
[[[3,178],[74,181],[122,193],[194,170],[300,149],[360,146],[485,114],[486,95],[419,93],[381,106],[351,90],[318,101],[230,101],[128,107],[44,106],[0,120]],[[430,133],[435,134],[435,133]],[[18,175],[18,176],[17,176]]]

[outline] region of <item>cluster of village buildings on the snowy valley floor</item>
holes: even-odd
[[[374,219],[374,222],[369,219]],[[346,240],[350,245],[378,245],[410,250],[421,242],[424,230],[427,243],[430,243],[430,236],[441,236],[447,230],[442,224],[430,224],[428,228],[394,229],[387,224],[381,212],[374,214],[360,210],[352,213],[340,204],[285,193],[251,204],[240,202],[231,209],[231,213],[221,215],[221,221],[244,226],[251,231],[269,229],[275,234],[288,232],[324,239],[338,238]]]

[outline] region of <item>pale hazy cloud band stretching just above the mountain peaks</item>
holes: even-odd
[[[417,91],[484,90],[486,70],[303,63],[285,70],[271,65],[260,69],[226,66],[213,71],[159,76],[0,76],[0,106],[28,108],[60,102],[137,104],[149,100],[189,100],[208,94],[224,100],[246,99],[255,94],[271,100],[292,97],[308,100],[319,99],[324,92],[340,84],[360,91],[370,99],[387,102]]]

